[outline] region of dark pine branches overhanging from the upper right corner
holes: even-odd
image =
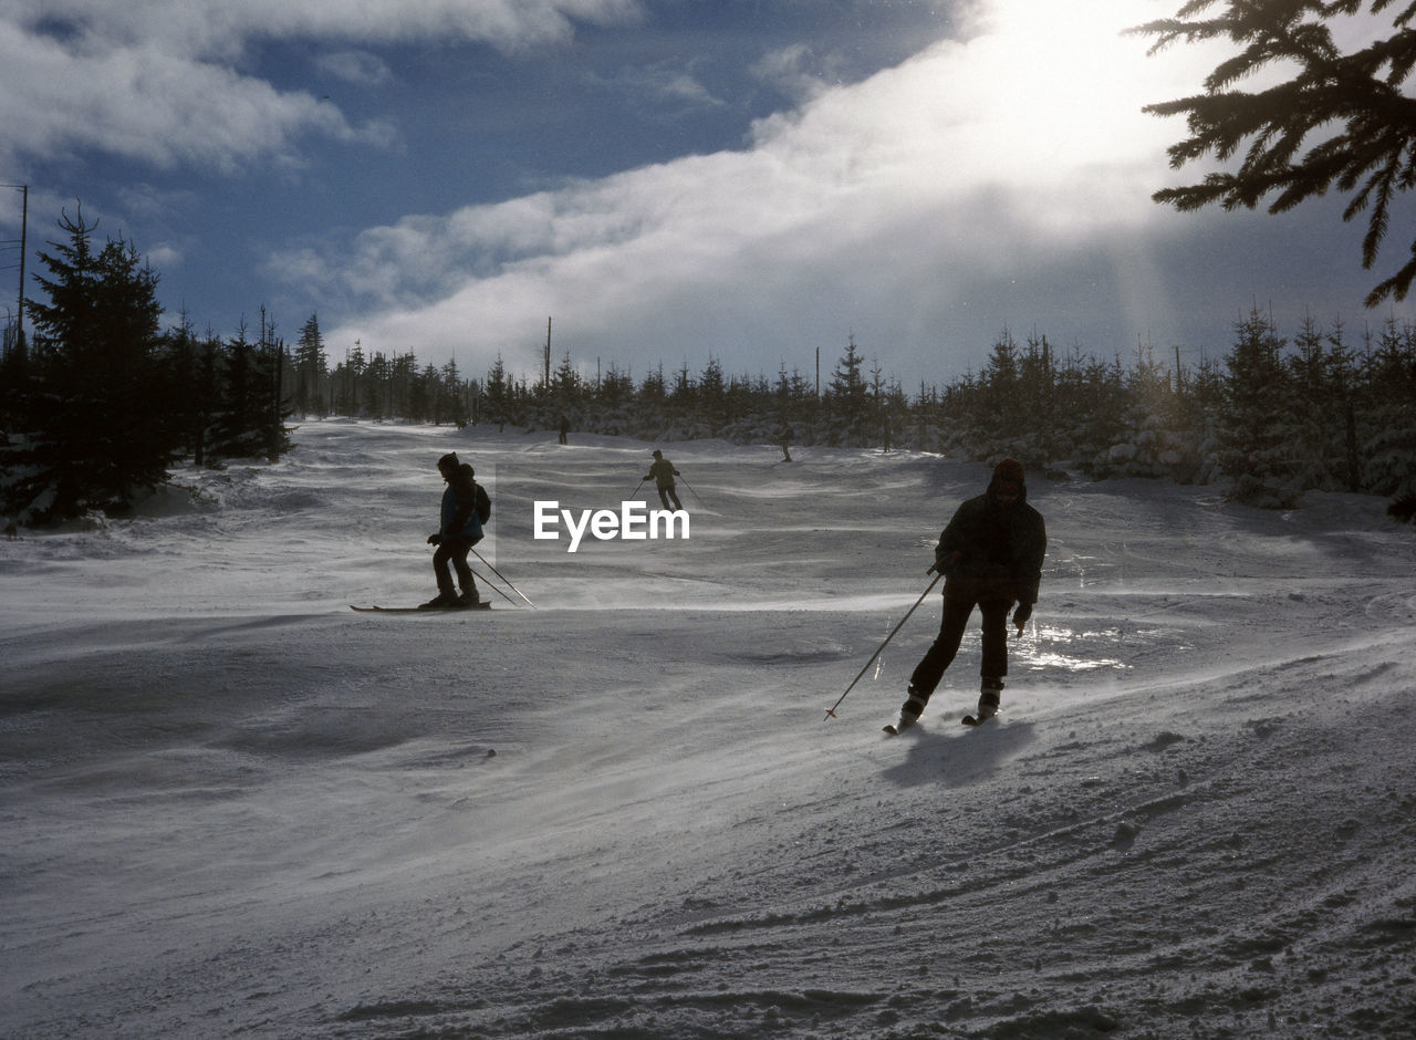
[[[1151,52],[1177,40],[1231,40],[1242,50],[1221,62],[1205,92],[1147,105],[1158,116],[1184,115],[1189,136],[1170,147],[1172,169],[1214,154],[1221,163],[1242,156],[1235,171],[1209,173],[1198,184],[1165,188],[1154,198],[1181,211],[1211,203],[1225,210],[1286,213],[1324,196],[1349,193],[1349,221],[1366,213],[1362,266],[1369,269],[1386,235],[1396,196],[1416,184],[1416,99],[1403,89],[1416,65],[1416,33],[1409,4],[1392,0],[1225,0],[1223,10],[1199,18],[1219,0],[1189,0],[1174,18],[1134,31],[1157,37]],[[1393,10],[1392,33],[1344,52],[1331,23]],[[1291,78],[1256,91],[1238,84],[1260,69],[1294,68]],[[1405,299],[1416,279],[1416,242],[1409,259],[1368,295],[1375,306]]]

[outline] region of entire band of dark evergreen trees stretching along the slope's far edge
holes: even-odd
[[[47,298],[28,302],[33,343],[11,336],[0,363],[0,499],[25,524],[122,513],[181,460],[279,458],[297,417],[1011,455],[1093,479],[1223,482],[1267,507],[1314,489],[1416,494],[1416,327],[1395,317],[1284,336],[1255,307],[1228,354],[1189,366],[1178,350],[1107,360],[1004,329],[977,373],[909,391],[854,339],[824,383],[786,364],[733,375],[712,357],[590,378],[569,354],[535,381],[500,357],[474,380],[358,343],[331,366],[316,315],[289,347],[263,310],[234,336],[198,334],[187,315],[163,329],[157,275],[132,244],[95,248],[82,214],[59,227],[67,239],[40,254]]]

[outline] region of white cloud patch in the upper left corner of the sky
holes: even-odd
[[[159,166],[217,169],[278,156],[316,133],[387,145],[330,102],[239,71],[252,40],[474,40],[514,50],[575,21],[633,20],[637,0],[0,0],[0,160],[96,149]],[[377,64],[334,58],[346,74]]]

